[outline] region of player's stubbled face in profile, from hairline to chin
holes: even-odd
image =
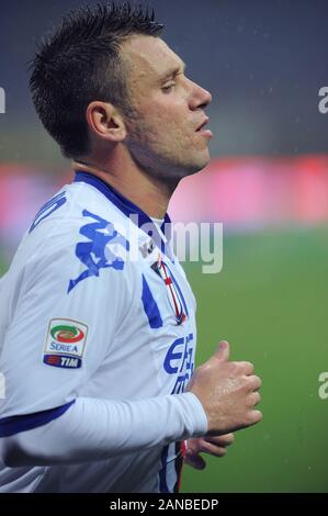
[[[197,128],[211,93],[188,79],[183,61],[159,37],[133,36],[123,56],[136,110],[124,142],[133,158],[157,178],[179,179],[204,168],[212,134]]]

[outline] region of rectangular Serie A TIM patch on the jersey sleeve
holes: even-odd
[[[78,321],[50,321],[43,361],[47,366],[79,369],[86,348],[88,326]]]

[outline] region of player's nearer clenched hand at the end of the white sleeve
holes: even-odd
[[[199,367],[186,391],[193,392],[207,417],[207,436],[219,436],[255,425],[262,413],[255,406],[261,397],[261,380],[250,362],[230,362],[229,345],[219,343],[213,357]]]

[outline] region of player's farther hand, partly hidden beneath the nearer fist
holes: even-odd
[[[188,439],[185,441],[184,462],[196,470],[203,470],[206,468],[206,462],[200,453],[204,452],[214,457],[224,457],[227,452],[227,447],[234,442],[234,434]]]

